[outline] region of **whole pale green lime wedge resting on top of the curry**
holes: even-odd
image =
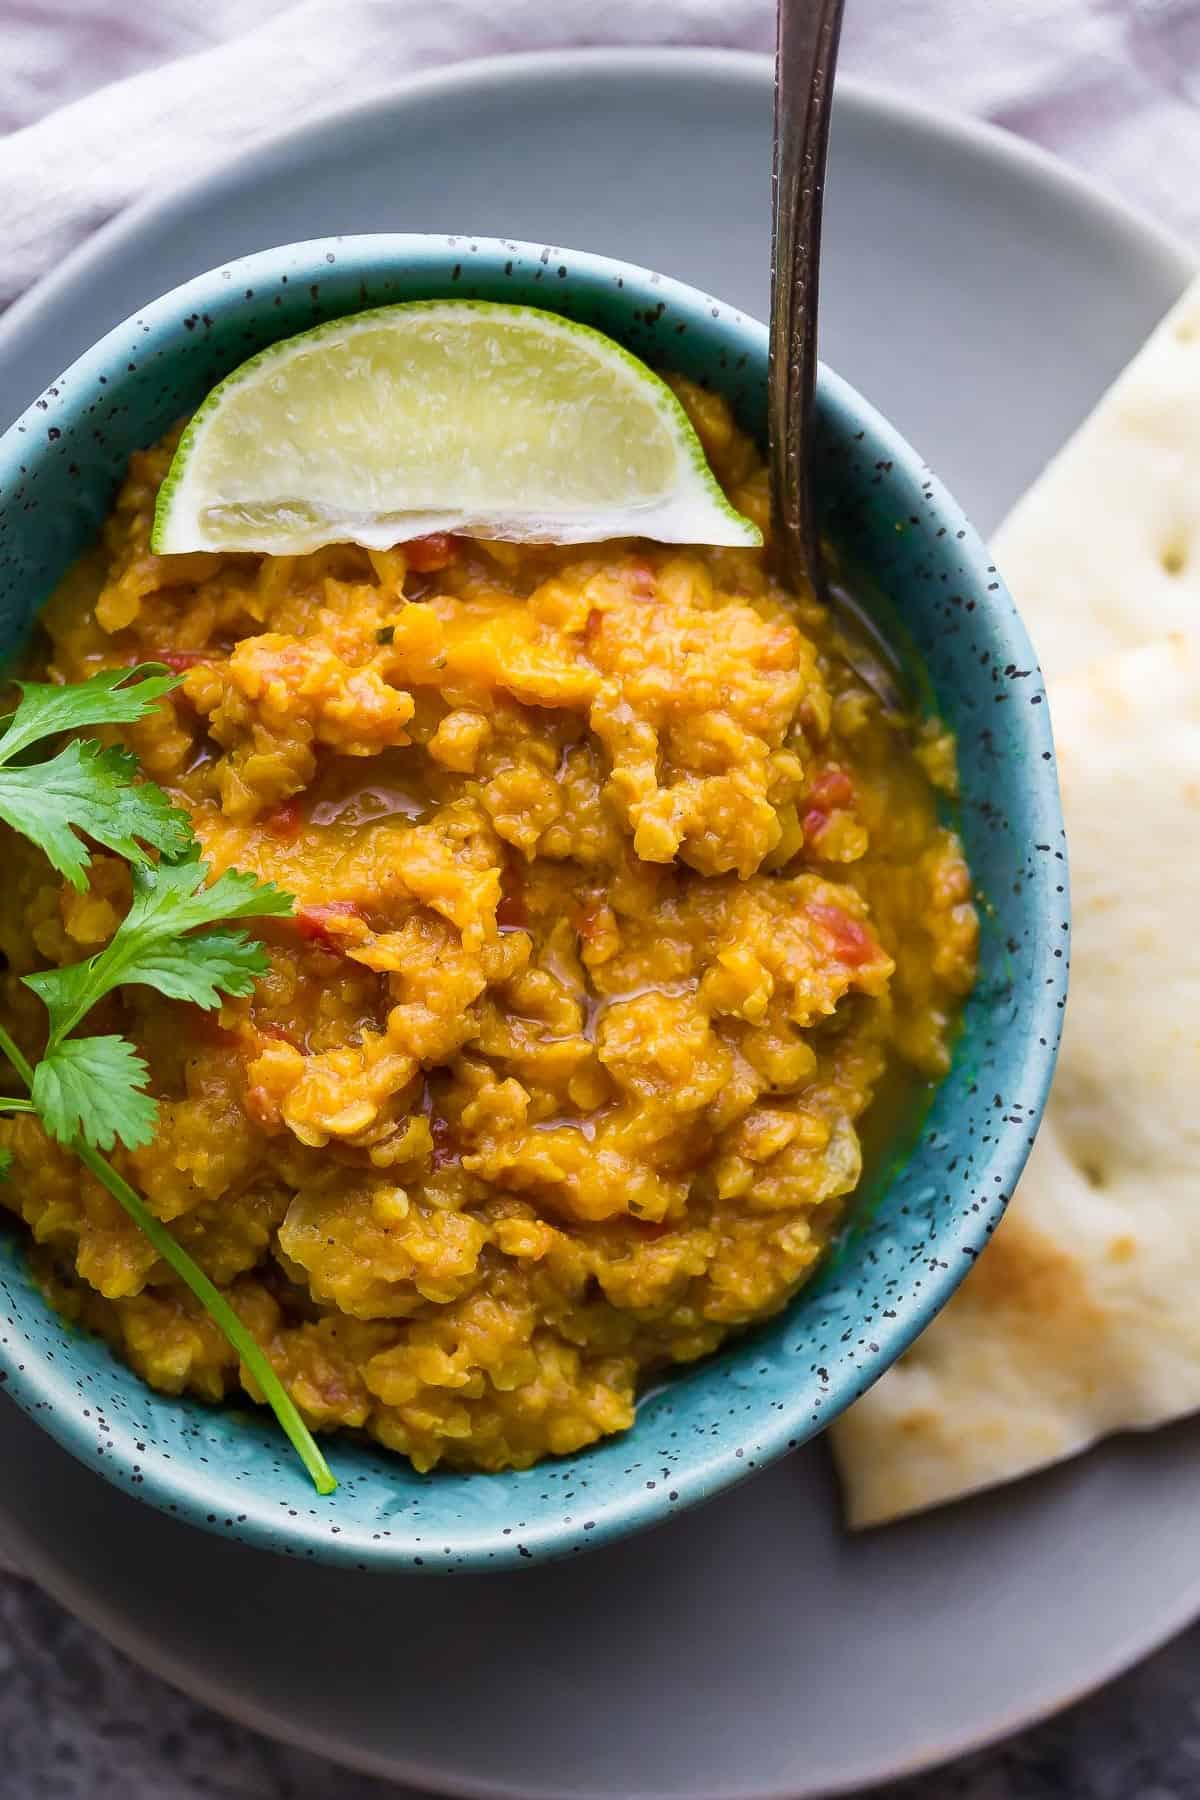
[[[432,531],[525,544],[761,544],[671,389],[533,306],[414,301],[272,344],[214,387],[153,547],[304,554]]]

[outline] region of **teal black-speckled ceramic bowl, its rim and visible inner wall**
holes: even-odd
[[[245,356],[322,319],[443,295],[547,306],[709,382],[765,428],[766,331],[660,275],[468,238],[349,238],[200,275],[117,326],[0,439],[0,650],[97,533],[131,450]],[[948,1300],[1033,1143],[1067,986],[1067,862],[1029,639],[954,500],[844,382],[820,378],[820,502],[900,608],[959,736],[961,830],[982,896],[981,976],[954,1069],[840,1255],[768,1327],[676,1375],[635,1427],[502,1476],[414,1474],[333,1440],[318,1499],[268,1417],[171,1400],[67,1328],[0,1237],[0,1382],[85,1463],[196,1525],[295,1557],[399,1570],[578,1553],[720,1492],[864,1391]]]

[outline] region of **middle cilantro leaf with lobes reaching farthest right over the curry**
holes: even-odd
[[[216,1006],[221,994],[250,994],[254,977],[266,970],[261,945],[243,931],[189,932],[232,918],[281,918],[291,913],[291,895],[236,869],[205,887],[207,873],[196,859],[135,868],[133,905],[97,956],[23,977],[50,1013],[50,1053],[122,985],[203,1008]]]

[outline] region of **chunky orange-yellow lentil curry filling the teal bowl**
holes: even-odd
[[[757,452],[675,383],[734,504]],[[525,1467],[781,1309],[860,1177],[887,1073],[946,1067],[975,970],[954,745],[889,716],[761,551],[426,538],[155,556],[178,434],[135,455],[40,670],[167,662],[122,727],[214,869],[297,895],[219,1019],[124,988],[151,1147],[117,1156],[318,1429]],[[5,832],[5,997],[128,905]],[[155,1388],[236,1354],[32,1118],[0,1186],[49,1298]],[[250,1391],[254,1391],[250,1388]],[[259,1395],[254,1395],[259,1399]]]

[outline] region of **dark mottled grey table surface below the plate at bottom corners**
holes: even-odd
[[[1092,1699],[880,1800],[1195,1800],[1200,1629]],[[36,1588],[0,1584],[4,1800],[401,1800],[133,1669]]]

